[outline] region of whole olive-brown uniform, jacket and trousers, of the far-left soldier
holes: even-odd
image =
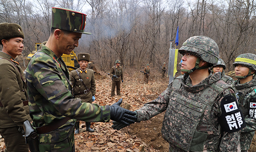
[[[5,152],[28,152],[24,133],[20,131],[24,121],[31,121],[25,77],[14,58],[2,51],[0,58],[0,134],[5,140]]]

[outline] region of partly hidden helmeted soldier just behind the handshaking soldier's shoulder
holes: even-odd
[[[212,72],[213,73],[221,72],[222,73],[221,80],[224,81],[225,83],[231,85],[232,83],[234,83],[234,79],[232,79],[230,76],[227,76],[225,74],[225,71],[224,71],[225,69],[226,69],[225,62],[221,58],[219,58],[218,63],[213,65]]]

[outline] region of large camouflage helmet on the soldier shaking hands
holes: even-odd
[[[193,52],[198,58],[210,64],[217,64],[219,58],[218,45],[206,36],[190,37],[182,44],[179,53],[182,51]]]

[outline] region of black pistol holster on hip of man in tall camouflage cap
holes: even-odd
[[[29,145],[29,150],[31,152],[39,152],[38,136],[36,130],[32,127],[29,120],[26,120],[23,123],[23,126],[25,130],[25,141]]]

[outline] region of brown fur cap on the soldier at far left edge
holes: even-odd
[[[0,44],[3,39],[11,39],[13,37],[21,37],[24,39],[24,33],[20,25],[16,23],[0,23]]]

